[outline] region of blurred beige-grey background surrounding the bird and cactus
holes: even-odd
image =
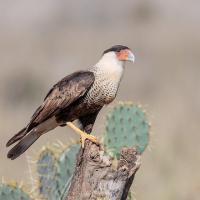
[[[0,177],[31,184],[27,157],[78,137],[57,128],[26,155],[6,158],[7,140],[30,119],[49,88],[94,65],[114,44],[129,46],[117,99],[141,103],[151,144],[134,182],[138,200],[197,200],[200,194],[200,1],[0,0]],[[100,113],[94,132],[103,132]]]

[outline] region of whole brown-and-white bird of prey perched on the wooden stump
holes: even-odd
[[[39,137],[58,126],[68,126],[78,133],[83,148],[86,139],[98,144],[91,134],[96,117],[115,99],[126,61],[134,60],[130,48],[114,45],[92,67],[74,72],[53,85],[27,126],[7,142],[7,147],[18,142],[8,151],[7,158],[16,159]],[[75,120],[81,128],[74,124]]]

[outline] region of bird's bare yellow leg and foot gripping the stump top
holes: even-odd
[[[81,131],[79,128],[77,128],[72,122],[67,122],[67,126],[69,126],[71,129],[73,129],[76,133],[78,133],[81,136],[81,146],[84,148],[85,140],[88,139],[96,144],[99,144],[97,141],[97,138],[93,135],[87,134],[84,131]]]

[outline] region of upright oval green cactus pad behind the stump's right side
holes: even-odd
[[[122,147],[135,147],[142,153],[149,142],[149,129],[141,106],[120,103],[107,115],[104,144],[113,156],[118,156]]]

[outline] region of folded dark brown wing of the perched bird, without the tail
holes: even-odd
[[[79,71],[55,84],[48,92],[43,104],[33,114],[28,129],[54,116],[82,97],[90,89],[94,79],[92,72]]]

